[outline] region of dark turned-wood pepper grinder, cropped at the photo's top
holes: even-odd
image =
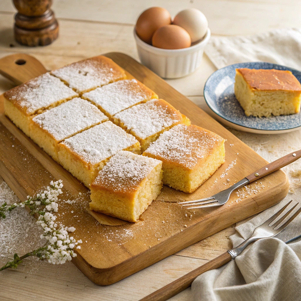
[[[14,35],[17,42],[27,46],[45,46],[58,36],[58,23],[50,9],[52,0],[13,0]]]

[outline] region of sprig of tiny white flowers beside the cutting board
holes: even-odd
[[[46,190],[42,194],[37,194],[36,197],[27,197],[27,200],[22,203],[14,203],[13,205],[7,205],[4,203],[0,207],[0,217],[5,218],[5,211],[11,211],[16,207],[28,206],[31,209],[30,214],[38,213],[39,217],[37,224],[41,225],[44,232],[41,234],[41,239],[45,238],[47,243],[44,247],[41,247],[37,250],[29,252],[21,257],[17,254],[14,255],[14,260],[7,262],[0,271],[17,266],[22,262],[22,259],[28,256],[37,256],[41,260],[48,260],[52,264],[63,264],[66,261],[76,257],[73,249],[76,245],[81,244],[82,240],[75,240],[72,236],[69,237],[68,232],[75,231],[74,227],[64,227],[60,226],[57,229],[58,225],[55,222],[56,216],[51,213],[51,211],[57,212],[58,209],[58,196],[62,194],[61,188],[63,188],[63,183],[61,180],[56,182],[51,181],[50,187],[47,186]],[[43,210],[38,210],[41,206],[45,206]],[[76,247],[80,249],[80,246]]]

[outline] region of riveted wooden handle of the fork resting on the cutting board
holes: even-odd
[[[266,166],[263,166],[261,169],[258,169],[256,172],[251,173],[246,178],[251,182],[256,181],[264,177],[265,175],[269,175],[270,173],[287,166],[288,164],[298,160],[301,158],[301,150],[290,153],[282,158],[275,160],[272,163],[269,163]]]

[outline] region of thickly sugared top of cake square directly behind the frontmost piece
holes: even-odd
[[[98,164],[138,141],[110,121],[76,134],[63,142],[83,161]]]

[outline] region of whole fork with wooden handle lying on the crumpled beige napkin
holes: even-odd
[[[299,203],[296,203],[290,210],[287,211],[281,218],[277,219],[272,225],[270,225],[283,211],[284,209],[291,203],[288,202],[284,207],[282,207],[277,213],[275,213],[272,217],[270,217],[267,221],[265,221],[262,225],[258,226],[254,229],[251,237],[246,239],[242,244],[238,247],[233,248],[232,250],[228,250],[224,254],[216,257],[215,259],[210,260],[204,265],[196,268],[195,270],[189,272],[188,274],[178,278],[170,284],[156,290],[154,293],[142,298],[140,301],[165,301],[176,294],[182,292],[187,287],[191,286],[191,283],[194,281],[197,276],[203,274],[204,272],[216,269],[229,262],[231,259],[235,259],[243,250],[253,241],[259,240],[261,238],[274,237],[276,234],[280,233],[293,219],[301,212],[301,207],[280,227],[277,228],[284,219],[292,213],[292,211],[296,208]],[[275,229],[277,228],[277,229]]]

